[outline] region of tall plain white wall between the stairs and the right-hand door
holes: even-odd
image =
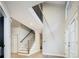
[[[46,42],[43,42],[43,54],[64,56],[65,7],[45,3],[43,13],[51,28],[49,32],[44,21],[43,41]]]

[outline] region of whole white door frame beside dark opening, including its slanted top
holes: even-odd
[[[0,2],[0,11],[4,16],[4,58],[11,57],[11,18],[5,2]]]

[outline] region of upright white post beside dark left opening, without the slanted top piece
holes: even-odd
[[[11,23],[10,18],[4,18],[4,57],[11,57]]]

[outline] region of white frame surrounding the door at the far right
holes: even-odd
[[[76,40],[78,41],[78,29],[79,29],[79,25],[78,25],[78,12],[76,11],[76,13],[73,15],[73,17],[68,21],[68,23],[66,24],[67,26],[66,26],[66,30],[67,30],[67,32],[68,32],[68,35],[69,35],[69,26],[72,24],[72,22],[74,22],[75,21],[75,29],[76,29]],[[67,40],[69,39],[69,37],[67,36]],[[68,40],[69,41],[69,40]],[[66,41],[66,44],[67,44],[68,42]],[[78,44],[78,42],[77,42],[77,44]],[[77,47],[77,48],[79,48],[79,47]],[[66,48],[65,49],[68,49],[69,50],[69,48],[66,46]],[[68,52],[69,53],[69,51],[67,51],[66,50],[66,52]],[[78,54],[78,53],[77,53]],[[69,55],[69,54],[68,54]],[[66,57],[70,57],[70,56],[68,56],[68,55],[66,55]]]

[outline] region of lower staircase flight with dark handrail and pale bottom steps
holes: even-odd
[[[18,51],[18,55],[27,56],[30,54],[30,49],[35,41],[35,34],[33,30],[30,30],[27,35],[24,36],[23,39],[19,42],[21,44],[20,50]]]

